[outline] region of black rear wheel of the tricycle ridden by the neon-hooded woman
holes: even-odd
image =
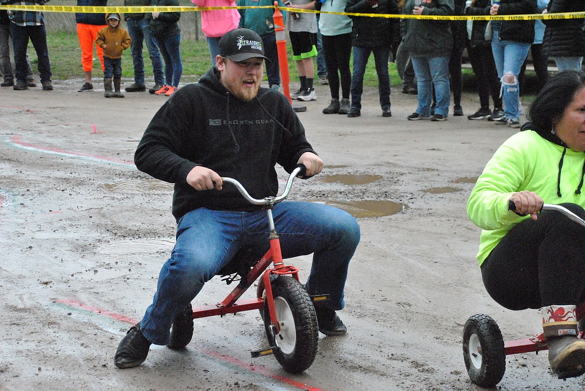
[[[504,338],[490,316],[476,314],[467,319],[463,329],[463,359],[469,378],[478,386],[493,387],[504,377]]]

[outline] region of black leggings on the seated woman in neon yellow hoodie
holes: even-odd
[[[585,211],[560,204],[577,216]],[[512,228],[481,265],[490,296],[510,310],[585,301],[585,227],[559,212],[544,210],[538,220]]]

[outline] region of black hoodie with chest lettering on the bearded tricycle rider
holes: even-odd
[[[177,90],[146,128],[136,150],[136,167],[154,178],[174,183],[173,216],[199,207],[257,210],[233,185],[221,191],[196,191],[187,174],[197,165],[235,178],[250,196],[261,199],[278,192],[274,166],[287,172],[305,152],[315,151],[288,99],[260,88],[250,102],[236,98],[211,68],[196,84]]]

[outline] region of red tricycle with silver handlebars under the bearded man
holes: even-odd
[[[298,165],[288,177],[283,193],[264,199],[252,198],[236,179],[222,178],[224,185],[235,185],[248,202],[266,209],[270,250],[257,261],[249,259],[245,251],[236,254],[218,275],[221,275],[228,285],[233,281],[239,281],[238,285],[216,305],[185,307],[171,327],[170,342],[167,344],[169,348],[181,349],[191,341],[194,319],[260,310],[270,347],[252,351],[252,357],[274,354],[280,365],[292,373],[300,373],[311,366],[317,352],[319,333],[313,302],[327,300],[328,295],[309,296],[299,281],[298,269],[283,263],[280,241],[272,216],[274,205],[287,198],[290,193],[294,178],[302,177],[304,173],[305,166]],[[273,267],[268,268],[270,264],[273,264]],[[240,299],[260,275],[256,297]]]

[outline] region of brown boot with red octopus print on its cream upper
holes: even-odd
[[[585,373],[585,340],[577,338],[576,306],[542,307],[542,330],[549,348],[550,369],[559,379]]]

